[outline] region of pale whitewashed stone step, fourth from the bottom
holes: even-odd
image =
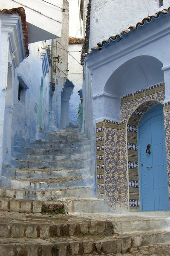
[[[92,187],[76,187],[76,188],[60,188],[60,189],[45,189],[45,190],[27,190],[27,189],[11,189],[0,188],[0,198],[9,198],[16,200],[59,200],[61,198],[91,198],[94,194]]]

